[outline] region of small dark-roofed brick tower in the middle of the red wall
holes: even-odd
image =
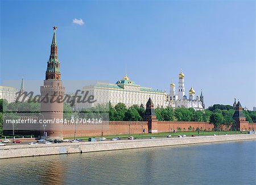
[[[148,123],[148,133],[158,133],[158,119],[156,119],[154,104],[151,98],[148,99],[146,104],[144,121]]]

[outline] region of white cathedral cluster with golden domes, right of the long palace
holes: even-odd
[[[179,74],[179,87],[177,89],[176,94],[176,86],[174,82],[170,85],[170,94],[167,95],[167,104],[172,108],[176,107],[185,107],[185,108],[194,108],[195,110],[204,110],[204,96],[201,91],[201,95],[197,95],[196,91],[191,87],[188,91],[188,98],[185,95],[185,83],[184,83],[185,75],[183,72]]]

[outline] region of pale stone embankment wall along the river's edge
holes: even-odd
[[[69,154],[83,152],[100,152],[106,150],[123,150],[150,148],[157,146],[173,146],[203,144],[208,142],[256,140],[256,134],[238,134],[229,136],[200,136],[185,138],[156,138],[143,140],[121,140],[101,142],[80,142],[51,145],[10,145],[0,146],[0,159],[28,157],[37,155]]]

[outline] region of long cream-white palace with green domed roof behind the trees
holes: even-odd
[[[167,106],[167,93],[161,90],[153,90],[151,87],[142,87],[137,85],[125,75],[116,83],[100,83],[85,86],[83,91],[89,95],[94,95],[95,103],[77,104],[77,108],[93,107],[94,104],[111,103],[113,106],[118,103],[124,103],[127,107],[134,104],[146,106],[147,100],[151,97],[156,107]]]

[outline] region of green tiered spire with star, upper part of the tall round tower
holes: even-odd
[[[58,47],[56,41],[56,30],[57,27],[53,27],[53,37],[51,44],[51,54],[47,62],[46,79],[57,79],[60,80],[60,62],[58,58]]]

